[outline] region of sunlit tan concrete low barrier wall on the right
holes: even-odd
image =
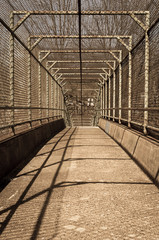
[[[100,118],[98,126],[110,135],[159,185],[159,143],[126,126]]]

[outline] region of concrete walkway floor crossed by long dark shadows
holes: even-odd
[[[158,193],[101,129],[66,128],[0,193],[0,239],[159,240]]]

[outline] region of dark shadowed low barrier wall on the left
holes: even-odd
[[[65,128],[63,119],[55,120],[0,143],[0,180],[27,158],[39,145]]]

